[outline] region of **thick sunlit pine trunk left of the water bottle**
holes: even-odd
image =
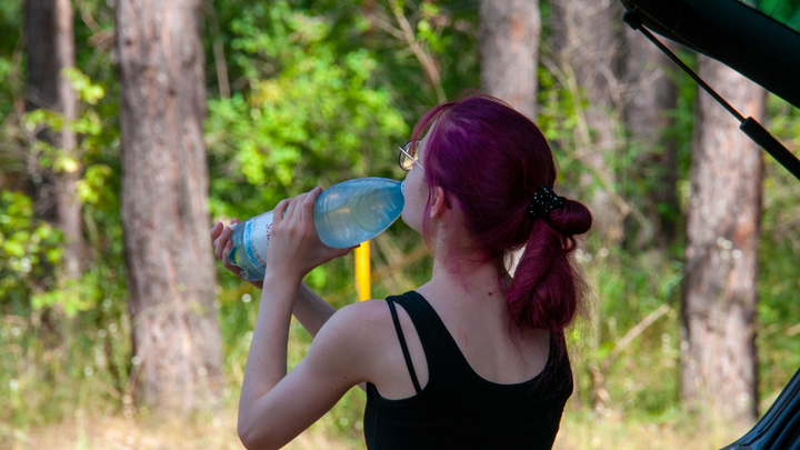
[[[162,412],[219,398],[208,246],[201,0],[118,0],[122,220],[137,397]]]

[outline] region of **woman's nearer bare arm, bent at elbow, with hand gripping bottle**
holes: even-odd
[[[338,313],[320,326],[309,353],[287,376],[289,326],[303,277],[352,250],[333,249],[320,241],[313,224],[319,192],[314,189],[283,200],[274,209],[268,259],[281,263],[267,268],[239,400],[239,437],[249,449],[282,447],[348,389],[367,379],[369,340],[356,339],[358,328],[347,320],[341,326],[347,313]],[[323,311],[312,306],[301,308],[300,313],[312,316],[311,327],[316,327]]]

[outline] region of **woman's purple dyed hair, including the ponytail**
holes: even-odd
[[[520,328],[562,331],[583,309],[583,281],[569,253],[577,246],[574,236],[591,228],[592,217],[574,200],[546,218],[527,213],[533,193],[542,186],[552,189],[556,181],[552,151],[541,131],[503,101],[484,94],[431,109],[414,127],[412,139],[431,126],[422,156],[431,189],[423,229],[432,188],[441,187],[458,200],[483,258],[477,262],[502,260],[524,246],[507,292],[508,313]]]

